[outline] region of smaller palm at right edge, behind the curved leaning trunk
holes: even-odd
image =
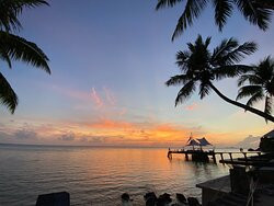
[[[249,84],[243,85],[244,83]],[[250,96],[248,106],[265,100],[264,113],[271,115],[274,96],[274,59],[269,56],[259,65],[251,66],[248,72],[239,78],[238,85],[241,88],[237,100]]]

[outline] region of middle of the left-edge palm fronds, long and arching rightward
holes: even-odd
[[[0,31],[0,55],[2,54],[7,54],[9,59],[31,64],[50,73],[48,58],[36,44]]]

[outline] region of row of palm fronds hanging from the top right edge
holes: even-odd
[[[184,0],[158,0],[156,10],[174,7]],[[195,19],[197,19],[206,5],[212,2],[215,9],[215,23],[222,30],[227,19],[231,16],[233,5],[242,13],[250,23],[258,25],[265,31],[271,22],[271,14],[274,10],[273,0],[185,0],[185,8],[172,35],[172,41],[181,35]]]

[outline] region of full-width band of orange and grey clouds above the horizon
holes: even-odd
[[[16,127],[14,127],[14,124]],[[271,126],[270,126],[271,127]],[[206,137],[214,145],[235,145],[248,135],[260,136],[269,129],[258,131],[222,128],[204,129],[203,127],[189,127],[185,125],[141,122],[133,123],[112,118],[101,118],[91,122],[73,121],[37,121],[28,119],[0,125],[0,131],[9,136],[16,135],[19,128],[27,128],[35,133],[35,142],[71,144],[71,145],[132,145],[132,146],[165,146],[182,147],[193,133],[194,138]],[[68,134],[68,131],[70,131]],[[32,139],[30,139],[31,141]],[[65,140],[65,141],[64,141]],[[30,142],[31,144],[31,142]]]

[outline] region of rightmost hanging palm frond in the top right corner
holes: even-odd
[[[235,0],[243,16],[252,24],[265,31],[271,23],[272,11],[253,0]]]

